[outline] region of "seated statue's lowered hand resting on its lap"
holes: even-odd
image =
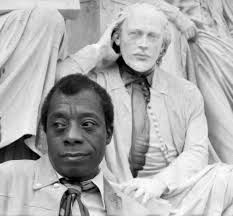
[[[160,198],[166,189],[166,185],[156,178],[134,178],[121,184],[123,193],[140,200],[142,204],[146,204],[151,199]]]

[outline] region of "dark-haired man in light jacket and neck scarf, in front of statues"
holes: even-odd
[[[125,196],[99,168],[113,132],[113,105],[83,75],[60,80],[42,107],[48,154],[0,166],[0,215],[168,215]],[[167,212],[167,213],[166,213]]]

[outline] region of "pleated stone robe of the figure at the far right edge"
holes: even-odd
[[[210,141],[223,162],[233,163],[233,4],[180,0],[176,6],[197,23],[197,40],[189,43],[194,70],[187,77],[204,97]]]

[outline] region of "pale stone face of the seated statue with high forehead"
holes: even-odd
[[[163,44],[161,16],[150,6],[135,8],[122,24],[119,45],[126,64],[138,72],[152,69]]]

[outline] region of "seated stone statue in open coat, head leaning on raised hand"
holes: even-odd
[[[123,191],[142,202],[162,197],[175,215],[231,215],[233,167],[208,166],[202,96],[190,82],[159,68],[169,40],[164,14],[135,4],[96,45],[63,62],[58,75],[88,73],[111,95],[114,143],[105,159]],[[114,64],[93,70],[112,57],[118,57]]]

